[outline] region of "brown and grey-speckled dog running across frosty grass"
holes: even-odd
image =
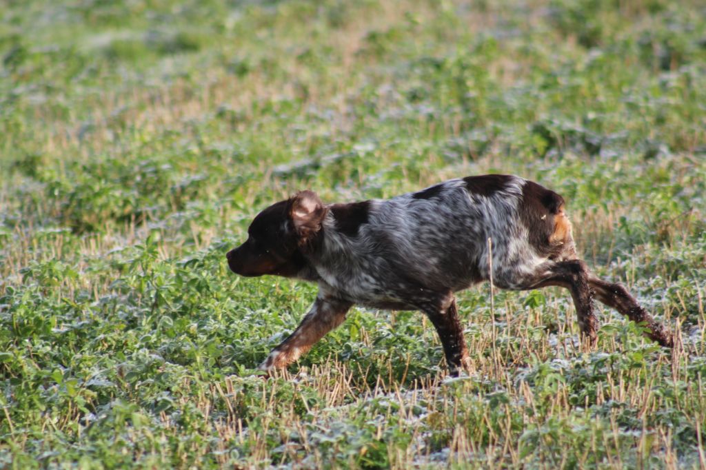
[[[241,276],[318,283],[309,313],[261,364],[266,371],[296,361],[359,304],[422,311],[438,332],[450,375],[458,375],[469,356],[454,293],[489,279],[511,290],[565,287],[581,337],[592,345],[595,296],[644,323],[647,337],[673,346],[625,287],[595,277],[578,258],[561,195],[519,176],[469,176],[344,204],[301,191],[260,212],[227,260]]]

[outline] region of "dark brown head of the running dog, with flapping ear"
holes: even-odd
[[[297,276],[325,216],[326,207],[312,191],[270,205],[253,219],[245,243],[227,253],[228,266],[241,276]]]

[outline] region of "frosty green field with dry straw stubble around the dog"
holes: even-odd
[[[706,6],[684,0],[8,0],[0,7],[0,467],[706,466]],[[674,330],[560,289],[354,309],[253,376],[316,286],[225,253],[301,188],[520,174]]]

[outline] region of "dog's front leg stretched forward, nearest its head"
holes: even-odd
[[[299,323],[297,330],[270,352],[270,355],[261,363],[260,369],[282,368],[297,361],[299,356],[309,351],[323,335],[343,323],[352,305],[353,303],[348,301],[325,297],[319,292],[319,296],[309,309],[309,313]]]

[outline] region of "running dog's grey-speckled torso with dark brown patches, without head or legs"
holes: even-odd
[[[520,278],[544,263],[573,255],[561,196],[517,176],[453,179],[355,204],[355,214],[332,206],[314,255],[325,281],[354,291],[361,303],[405,299],[420,287],[465,289],[488,279],[490,250],[493,279],[508,289],[521,288]]]

